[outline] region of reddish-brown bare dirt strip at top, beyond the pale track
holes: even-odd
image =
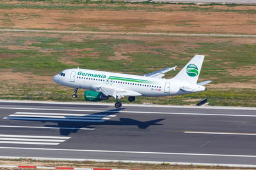
[[[22,3],[20,1],[2,2],[6,4]],[[72,4],[72,6],[74,5]],[[77,4],[77,6],[83,5]],[[97,4],[86,5],[92,7]],[[0,25],[13,29],[256,34],[256,13],[253,12],[255,6],[196,6],[196,8],[203,10],[193,10],[195,6],[188,8],[188,5],[182,4],[163,4],[160,6],[125,4],[127,8],[139,8],[138,10],[126,10],[126,8],[122,10],[120,5],[104,5],[121,9],[97,10],[95,8],[92,10],[86,8],[71,11],[33,9],[32,7],[1,9]]]

